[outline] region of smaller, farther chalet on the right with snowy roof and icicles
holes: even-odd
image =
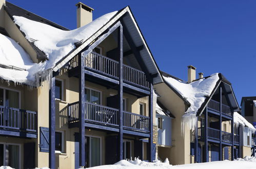
[[[171,164],[187,164],[251,155],[250,147],[242,144],[243,128],[253,131],[253,126],[246,126],[248,122],[237,113],[240,108],[231,83],[221,73],[207,77],[200,73],[196,79],[195,68],[188,66],[188,81],[162,75],[164,82],[154,85],[160,95],[157,101],[175,118],[166,131],[171,134],[171,146],[158,146],[158,157],[168,158]],[[157,122],[161,128],[164,121]]]

